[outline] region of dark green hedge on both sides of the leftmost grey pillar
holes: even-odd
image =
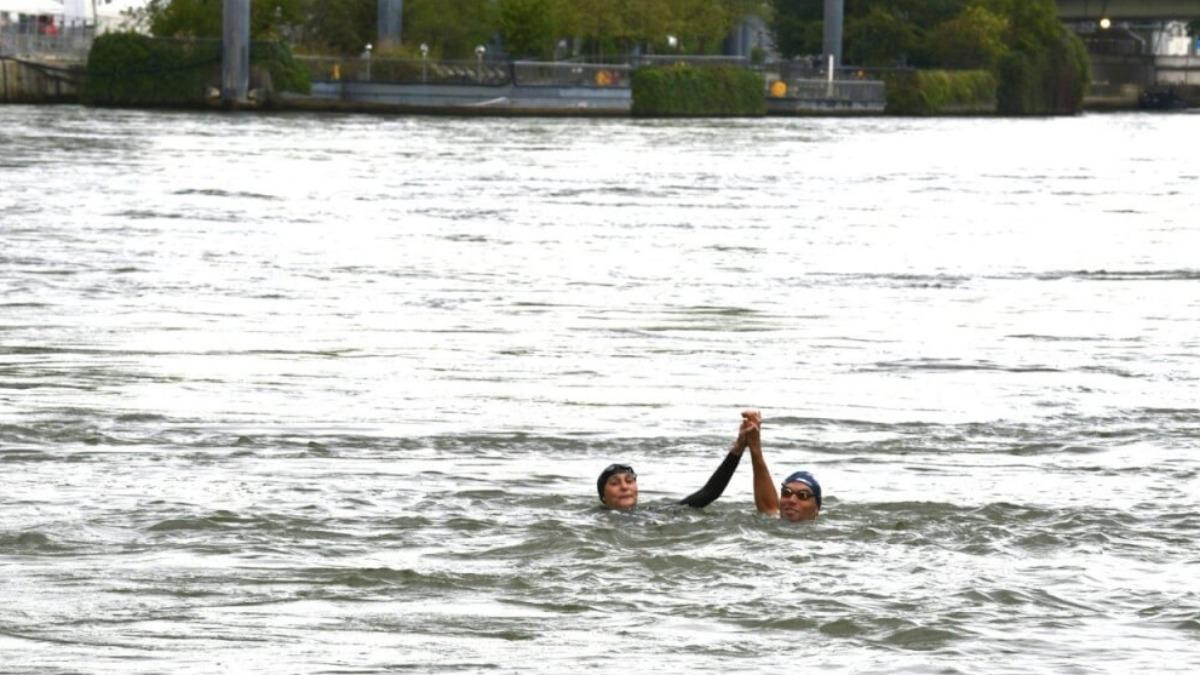
[[[308,71],[286,44],[251,43],[250,61],[271,74],[275,91],[308,91]],[[109,32],[91,46],[79,97],[90,106],[200,106],[220,83],[220,41]]]

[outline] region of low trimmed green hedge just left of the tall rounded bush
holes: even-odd
[[[996,77],[990,71],[901,71],[884,76],[887,112],[895,115],[992,113]]]

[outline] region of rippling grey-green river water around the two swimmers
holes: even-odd
[[[1195,671],[1198,121],[0,107],[0,670]]]

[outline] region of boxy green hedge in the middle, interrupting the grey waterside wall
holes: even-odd
[[[637,117],[762,117],[762,76],[737,66],[646,66],[634,71]]]

